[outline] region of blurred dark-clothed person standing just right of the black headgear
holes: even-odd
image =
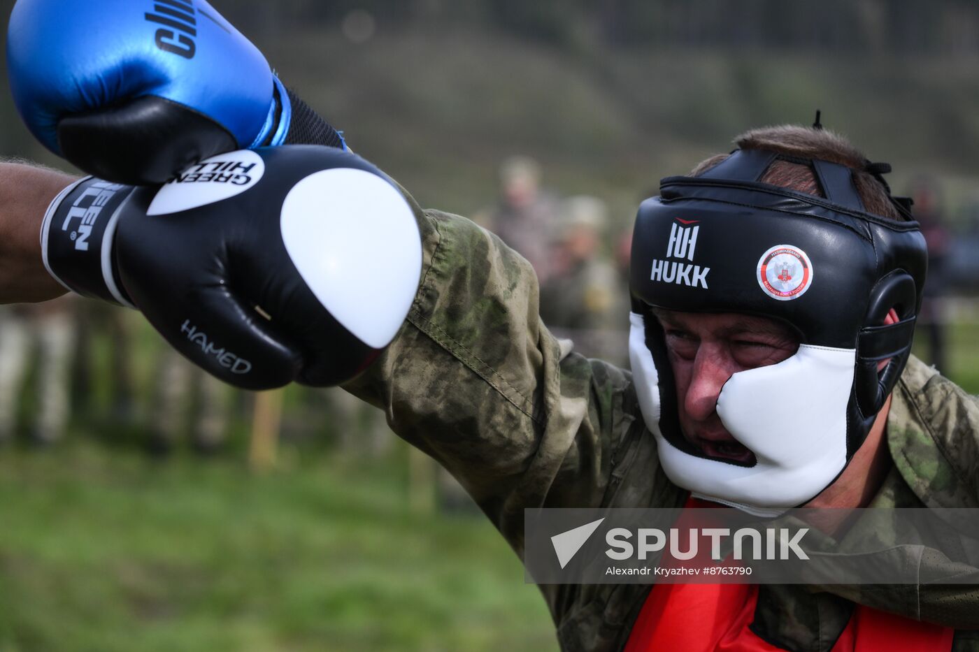
[[[914,216],[921,223],[921,233],[928,244],[928,280],[924,285],[924,302],[921,303],[919,323],[928,338],[931,363],[945,376],[950,375],[946,359],[946,315],[943,298],[949,286],[946,262],[949,254],[950,234],[942,206],[942,189],[938,179],[921,175],[910,184],[914,201]]]

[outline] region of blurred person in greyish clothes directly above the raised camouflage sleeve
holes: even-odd
[[[501,163],[499,201],[475,220],[527,258],[543,281],[551,273],[548,244],[559,221],[559,203],[540,187],[540,174],[540,164],[529,157],[515,156]]]

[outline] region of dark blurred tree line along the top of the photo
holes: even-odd
[[[473,23],[558,46],[598,41],[914,55],[979,52],[979,3],[969,0],[239,0],[241,26],[337,23],[350,11],[381,24]],[[231,12],[230,7],[222,11]]]

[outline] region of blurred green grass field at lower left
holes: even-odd
[[[556,648],[502,538],[408,515],[397,459],[256,476],[71,439],[0,451],[2,652]]]

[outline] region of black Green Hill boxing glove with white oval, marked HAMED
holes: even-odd
[[[157,188],[81,179],[52,202],[41,241],[70,290],[138,308],[250,390],[352,378],[395,337],[421,272],[395,183],[318,146],[220,155]]]

